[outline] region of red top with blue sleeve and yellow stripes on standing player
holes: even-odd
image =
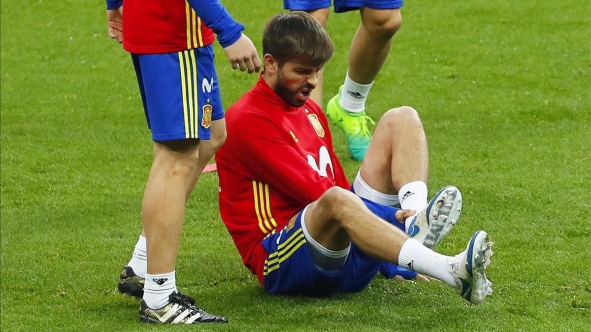
[[[137,54],[172,53],[212,44],[223,47],[242,34],[219,0],[125,0],[123,47]]]

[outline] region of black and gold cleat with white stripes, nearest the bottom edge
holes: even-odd
[[[142,300],[139,305],[139,321],[147,324],[228,323],[228,318],[208,314],[190,304],[187,298],[190,297],[174,292],[168,296],[168,304],[157,310],[149,308]]]

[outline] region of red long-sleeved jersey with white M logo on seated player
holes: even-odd
[[[311,100],[288,105],[261,77],[226,114],[216,153],[222,220],[242,261],[262,280],[265,236],[328,188],[349,189],[326,116]]]

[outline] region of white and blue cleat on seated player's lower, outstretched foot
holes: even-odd
[[[486,279],[486,267],[491,263],[492,241],[479,230],[472,235],[464,252],[450,263],[450,273],[457,283],[457,292],[466,301],[479,304],[492,294],[492,282]]]

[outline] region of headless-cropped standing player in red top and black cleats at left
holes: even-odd
[[[144,232],[121,274],[119,292],[142,298],[144,323],[226,323],[177,291],[174,268],[185,202],[226,137],[214,33],[233,69],[252,73],[261,61],[243,25],[218,0],[106,3],[109,35],[131,53],[154,141],[142,202]]]

